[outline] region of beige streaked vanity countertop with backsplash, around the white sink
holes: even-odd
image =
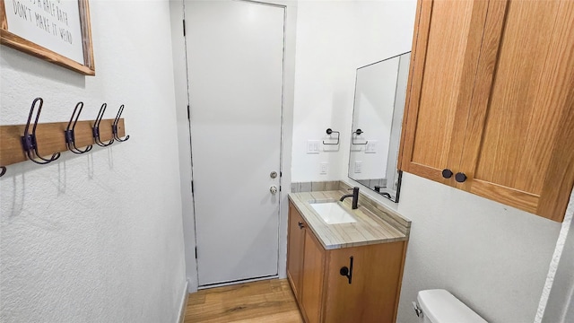
[[[356,223],[327,224],[309,203],[338,201],[347,193],[344,190],[290,193],[289,199],[325,249],[408,240],[411,222],[368,196],[359,196],[359,208],[355,210],[351,209],[352,198],[344,199],[342,206]]]

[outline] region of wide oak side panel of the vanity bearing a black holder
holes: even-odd
[[[325,322],[391,323],[401,287],[405,242],[329,250]],[[352,282],[340,275],[352,264]]]

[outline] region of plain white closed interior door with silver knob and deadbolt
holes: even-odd
[[[284,8],[187,1],[199,285],[277,275]]]

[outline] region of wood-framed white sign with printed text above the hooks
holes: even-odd
[[[0,0],[0,42],[95,75],[88,0]]]

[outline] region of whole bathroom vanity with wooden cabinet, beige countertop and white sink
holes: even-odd
[[[411,223],[363,195],[352,210],[350,198],[338,202],[347,193],[340,188],[289,195],[287,276],[301,315],[308,323],[395,322]],[[351,219],[324,219],[314,207],[321,204]]]

